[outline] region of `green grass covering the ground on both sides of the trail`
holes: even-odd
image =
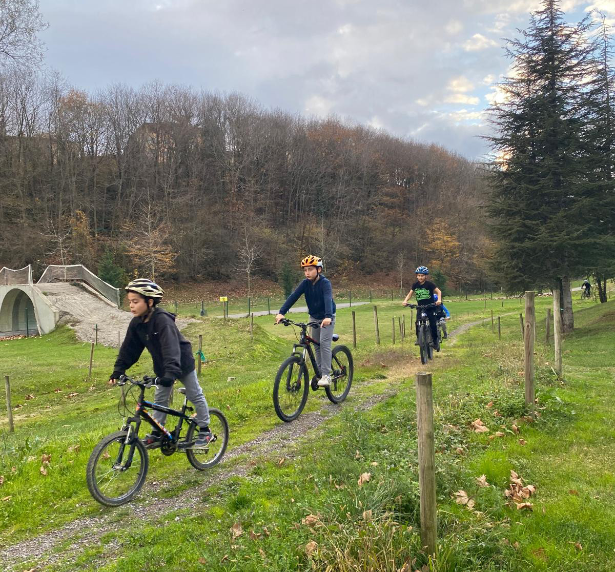
[[[522,300],[506,300],[503,310],[501,301],[487,300],[486,312],[479,299],[446,300],[454,318],[451,329],[479,317],[490,318],[491,309],[496,316],[513,313],[502,317],[501,342],[492,333],[489,319],[432,362],[441,539],[434,570],[606,571],[615,565],[615,474],[605,462],[615,453],[611,429],[615,413],[610,407],[615,304],[576,303],[580,308],[575,316],[577,331],[565,338],[565,383],[560,384],[547,365],[552,363],[552,348],[543,341],[542,320],[551,303],[550,298],[537,298],[541,320],[535,360],[541,416],[536,423],[526,424],[518,422],[526,413],[519,376],[523,370],[518,319]],[[400,358],[416,362],[416,357],[408,357],[409,352],[416,354],[411,338],[403,346],[399,338],[395,348],[391,344],[392,317],[405,313],[411,330],[409,310],[399,303],[378,304],[383,342],[379,347],[374,341],[371,306],[357,307],[355,312],[358,383],[349,406],[359,394],[374,391],[364,382],[381,375],[380,362]],[[342,335],[340,341],[349,345],[351,323],[351,312],[340,310],[336,331]],[[252,343],[248,324],[248,320],[212,319],[192,324],[187,331],[192,340],[199,333],[205,336],[209,360],[202,376],[205,394],[211,405],[228,416],[232,446],[278,423],[271,407],[272,378],[293,339],[292,328],[274,327],[266,316],[255,319]],[[0,491],[2,497],[12,496],[0,502],[2,542],[98,512],[84,490],[85,462],[98,438],[121,423],[113,413],[117,389],[105,385],[113,350],[97,349],[95,381],[90,383],[87,370],[73,365],[83,362],[87,367],[89,348],[74,343],[68,330],[39,340],[14,341],[10,348],[11,356],[2,354],[0,363],[14,380],[14,402],[25,405],[15,411],[20,415],[17,432],[0,435],[0,474],[5,475]],[[143,359],[136,369],[145,373],[148,367],[149,359]],[[22,373],[26,368],[27,377]],[[227,382],[228,376],[237,379]],[[55,394],[61,384],[68,384],[65,393]],[[95,389],[90,391],[92,386]],[[66,391],[79,395],[68,398]],[[34,393],[33,400],[19,399],[29,393]],[[320,399],[311,394],[308,407],[314,409]],[[493,406],[487,407],[491,401]],[[426,560],[419,554],[417,534],[413,379],[403,380],[397,395],[370,411],[354,413],[349,406],[327,421],[322,437],[308,437],[298,444],[281,467],[277,458],[251,459],[247,477],[215,483],[196,511],[162,514],[156,522],[138,528],[119,526],[117,533],[105,536],[102,547],[54,570],[197,570],[205,566],[208,570],[326,570],[327,566],[368,570],[386,559],[392,562],[383,570],[399,570],[409,556],[418,558],[418,568]],[[496,410],[502,417],[494,416]],[[491,434],[505,425],[501,430],[506,435],[489,440],[488,435],[470,432],[469,423],[478,417]],[[514,421],[526,440],[523,446],[510,431]],[[74,443],[81,448],[70,453],[68,447]],[[39,472],[42,453],[52,455],[47,477]],[[28,461],[31,456],[36,460]],[[169,494],[175,494],[175,475],[191,469],[185,459],[161,459],[152,455],[148,479],[169,479]],[[533,512],[518,512],[506,505],[503,491],[510,469],[538,487],[531,499]],[[371,480],[358,487],[363,472],[370,472]],[[481,474],[490,487],[477,487],[475,477]],[[477,512],[451,499],[459,489],[475,497]],[[369,510],[371,514],[365,512]],[[322,526],[302,525],[308,514],[318,514]],[[124,517],[119,518],[122,522]],[[229,529],[236,522],[244,533],[231,542]],[[263,534],[264,527],[270,536]],[[250,540],[250,530],[262,536]],[[311,541],[317,549],[308,555],[305,547]],[[120,549],[111,542],[119,542]],[[576,542],[582,550],[575,548]],[[103,556],[98,561],[107,545],[114,546],[113,560]],[[119,560],[116,554],[121,555]]]

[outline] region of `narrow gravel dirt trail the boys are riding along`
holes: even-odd
[[[511,312],[514,313],[514,312]],[[449,338],[455,338],[461,333],[466,332],[470,327],[482,324],[486,320],[477,320],[464,324],[449,334]],[[454,339],[449,339],[447,344],[453,344]],[[444,346],[446,349],[446,346]],[[424,369],[420,361],[413,360],[411,363],[400,364],[398,367],[387,370],[387,377],[391,380],[391,385],[383,392],[371,395],[368,399],[357,403],[354,409],[357,411],[365,411],[385,399],[388,399],[395,393],[399,387],[399,382],[402,379],[407,379],[418,371]],[[367,387],[368,384],[363,384],[362,387]],[[197,487],[191,486],[188,490],[183,491],[178,496],[168,497],[159,493],[164,492],[162,488],[165,483],[149,482],[146,483],[143,491],[138,498],[145,499],[143,502],[135,501],[130,504],[130,514],[117,518],[116,510],[108,510],[105,514],[82,517],[66,523],[57,530],[28,539],[13,546],[4,547],[0,550],[0,562],[4,562],[6,570],[18,566],[26,560],[34,559],[38,562],[39,569],[47,566],[53,566],[60,560],[67,560],[73,555],[81,554],[84,549],[89,546],[95,546],[100,542],[101,536],[109,531],[116,530],[118,526],[128,526],[129,523],[140,525],[145,522],[157,520],[161,515],[173,510],[190,509],[202,506],[203,498],[207,495],[207,489],[212,482],[220,482],[234,476],[245,476],[252,468],[249,463],[240,463],[237,466],[226,468],[225,462],[238,458],[249,453],[250,459],[258,458],[258,456],[266,455],[268,458],[278,458],[279,456],[289,456],[289,451],[292,450],[295,443],[305,437],[308,432],[315,432],[322,429],[322,424],[332,416],[339,415],[344,410],[344,405],[334,405],[333,403],[325,402],[318,411],[301,415],[293,423],[282,423],[275,426],[273,429],[264,432],[255,439],[239,445],[229,451],[224,456],[222,463],[205,473],[204,483]],[[310,435],[314,439],[314,435]],[[232,439],[232,433],[231,433]],[[192,480],[194,473],[186,471],[180,475],[178,484],[181,484],[186,479]],[[54,550],[60,543],[73,539],[73,542],[62,550],[62,554],[57,554]],[[116,546],[112,542],[107,549],[114,549]]]

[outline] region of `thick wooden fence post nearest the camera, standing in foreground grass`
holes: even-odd
[[[435,495],[434,400],[431,373],[416,374],[416,428],[419,451],[421,545],[435,554],[437,506]]]

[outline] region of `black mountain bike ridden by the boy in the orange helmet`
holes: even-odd
[[[273,406],[276,409],[277,416],[290,423],[293,419],[298,418],[303,411],[303,408],[308,401],[309,387],[312,391],[317,391],[318,380],[320,379],[320,370],[312,350],[312,345],[319,345],[317,341],[308,335],[308,328],[317,328],[320,322],[309,322],[303,324],[301,322],[293,322],[292,320],[280,320],[280,324],[285,326],[295,325],[301,328],[299,343],[293,345],[293,351],[290,357],[280,365],[277,370],[276,381],[273,385]],[[333,334],[333,341],[338,341],[339,336]],[[311,381],[308,377],[308,366],[306,365],[306,357],[309,356],[314,369],[314,376]],[[346,346],[335,346],[331,349],[331,385],[325,387],[327,397],[333,403],[341,403],[352,384],[352,373],[354,366],[352,364],[352,354]]]

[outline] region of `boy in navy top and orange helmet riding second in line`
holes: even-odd
[[[305,274],[298,287],[295,288],[276,316],[276,324],[284,319],[293,304],[303,294],[308,304],[310,322],[320,322],[319,328],[312,328],[312,338],[319,342],[320,346],[314,346],[316,363],[322,376],[318,380],[319,387],[331,385],[331,339],[335,328],[335,302],[331,282],[322,275],[322,259],[318,256],[306,256],[301,261],[301,268]]]

